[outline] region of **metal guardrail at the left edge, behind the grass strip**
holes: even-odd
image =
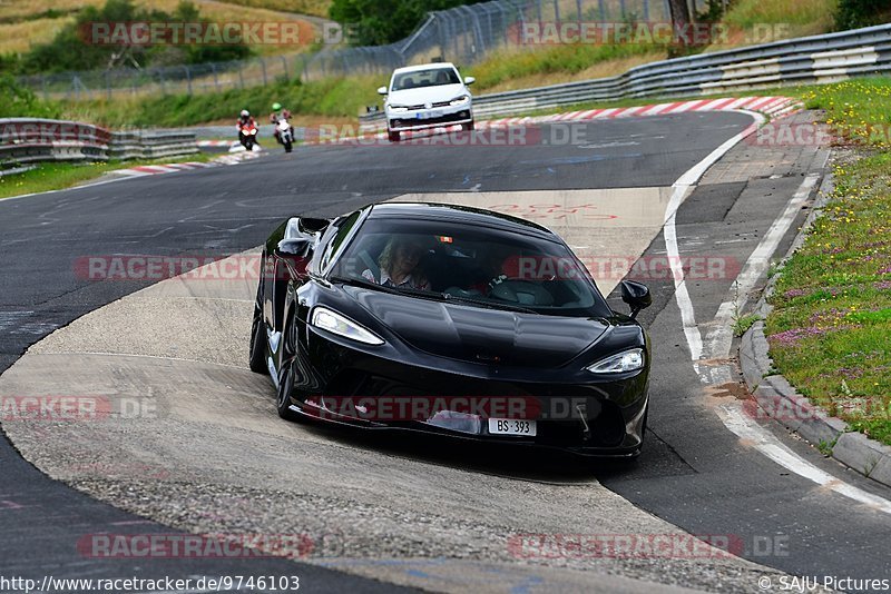
[[[43,161],[155,159],[198,152],[195,133],[184,130],[109,132],[66,120],[0,119],[0,169]]]

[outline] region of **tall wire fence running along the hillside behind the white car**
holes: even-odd
[[[704,10],[707,0],[688,0]],[[668,0],[495,0],[430,12],[408,38],[388,46],[324,47],[231,62],[62,72],[20,77],[45,99],[108,99],[139,95],[193,95],[353,75],[389,75],[394,68],[443,60],[469,66],[492,51],[519,46],[526,23],[669,22]]]

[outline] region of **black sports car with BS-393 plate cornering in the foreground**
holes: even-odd
[[[569,247],[522,219],[380,204],[293,217],[263,250],[251,368],[278,414],[634,457],[647,288],[613,311]]]

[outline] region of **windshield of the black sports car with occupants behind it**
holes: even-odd
[[[329,276],[471,307],[609,315],[588,270],[564,244],[467,222],[370,219]]]

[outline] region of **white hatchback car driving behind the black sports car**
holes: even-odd
[[[460,123],[462,129],[472,130],[473,99],[467,87],[474,80],[462,80],[448,62],[395,69],[389,89],[378,89],[386,96],[383,109],[390,141],[398,142],[400,132]]]

